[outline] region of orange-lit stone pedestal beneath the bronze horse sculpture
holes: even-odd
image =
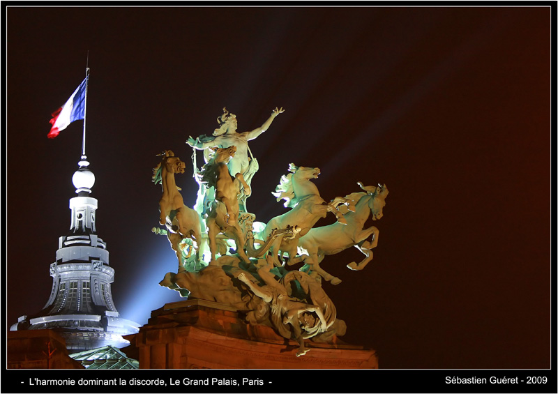
[[[140,332],[126,336],[140,368],[211,369],[375,369],[375,351],[334,337],[329,344],[307,340],[310,351],[296,357],[299,345],[273,328],[246,324],[227,305],[203,300],[166,304],[151,312]],[[136,353],[137,352],[137,353]]]

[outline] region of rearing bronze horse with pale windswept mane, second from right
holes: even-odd
[[[328,204],[320,197],[317,186],[310,181],[319,176],[317,167],[299,167],[289,165],[292,174],[283,175],[280,184],[273,195],[277,201],[285,199],[285,206],[292,208],[290,211],[269,220],[261,239],[267,239],[273,229],[296,229],[294,234],[281,235],[273,241],[269,249],[273,255],[273,264],[281,266],[280,258],[286,253],[289,259],[296,256],[296,246],[299,238],[310,231],[319,218],[325,218],[328,212],[333,212],[342,221],[342,214],[335,209],[333,204]]]

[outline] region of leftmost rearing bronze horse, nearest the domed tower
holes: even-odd
[[[172,151],[164,151],[158,156],[163,156],[163,160],[153,168],[153,183],[161,183],[163,186],[163,196],[159,200],[159,224],[167,227],[167,236],[172,250],[176,252],[179,259],[179,272],[183,271],[183,255],[179,244],[183,238],[190,238],[194,243],[196,257],[199,251],[199,244],[202,242],[202,224],[199,214],[184,205],[184,200],[180,194],[180,188],[176,185],[174,174],[183,174],[186,164],[174,156]]]

